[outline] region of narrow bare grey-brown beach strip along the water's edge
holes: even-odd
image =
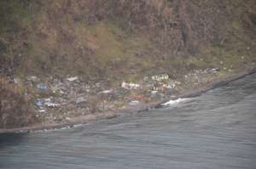
[[[166,103],[170,99],[179,99],[179,98],[193,98],[200,96],[202,93],[206,93],[209,90],[214,88],[222,87],[230,82],[234,82],[238,79],[241,79],[245,76],[249,76],[256,73],[256,68],[247,69],[242,71],[241,73],[233,76],[227,76],[219,78],[216,81],[209,82],[207,85],[197,88],[197,89],[189,89],[187,91],[183,91],[182,94],[177,95],[176,97],[165,99],[158,102],[152,102],[149,104],[138,104],[133,107],[121,108],[117,110],[111,110],[104,113],[95,113],[90,115],[81,115],[77,117],[73,117],[69,122],[63,124],[51,123],[51,124],[36,124],[31,127],[20,127],[20,128],[12,128],[12,129],[0,129],[0,134],[3,133],[26,133],[26,132],[35,132],[35,131],[44,131],[44,130],[53,130],[53,129],[61,129],[63,127],[74,127],[79,124],[84,124],[91,121],[98,121],[102,119],[111,119],[115,118],[119,115],[125,115],[129,113],[137,113],[145,110],[158,109],[163,103]]]

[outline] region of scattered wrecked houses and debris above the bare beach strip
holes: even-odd
[[[62,123],[74,116],[169,99],[186,85],[207,82],[212,74],[218,74],[218,68],[193,70],[180,81],[173,80],[166,73],[145,76],[138,82],[120,82],[118,87],[109,87],[106,82],[86,82],[80,76],[49,76],[44,79],[27,76],[24,83],[33,88],[33,92],[26,95],[34,104],[38,118],[48,123]],[[20,81],[15,79],[15,82]]]

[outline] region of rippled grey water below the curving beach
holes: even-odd
[[[0,168],[256,168],[256,75],[160,110],[0,135]]]

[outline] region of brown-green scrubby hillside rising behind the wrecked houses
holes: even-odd
[[[256,63],[254,0],[2,0],[0,20],[0,121],[13,118],[3,105],[19,107],[3,104],[15,93],[32,110],[35,99],[52,96],[28,87],[28,76],[44,83],[79,76],[107,89],[160,73],[183,82],[193,72],[218,68],[218,75],[197,82],[205,84]],[[20,79],[20,89],[5,97],[10,78]],[[174,93],[194,83],[184,80]],[[20,112],[37,121],[26,114]]]

